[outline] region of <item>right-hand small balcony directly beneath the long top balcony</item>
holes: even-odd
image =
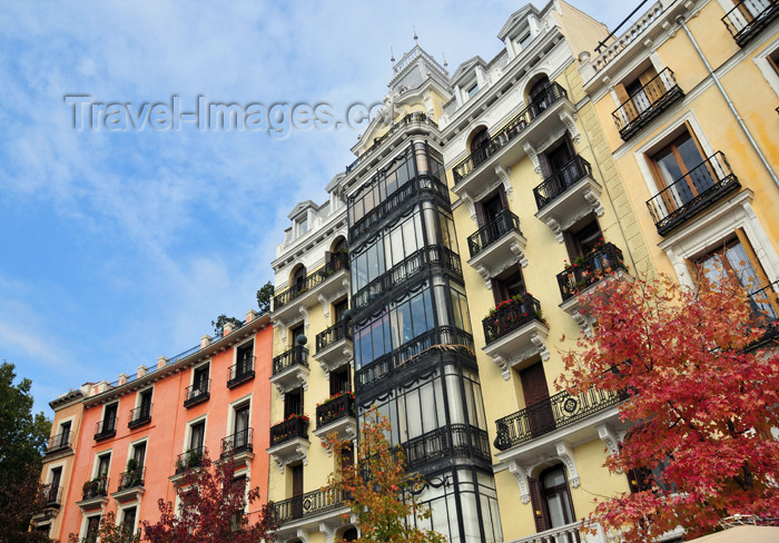
[[[563,231],[590,213],[603,215],[601,186],[592,177],[590,162],[576,156],[533,189],[535,217],[550,227],[559,243]]]

